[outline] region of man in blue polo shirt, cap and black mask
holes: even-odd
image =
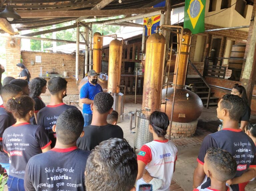
[[[88,82],[84,84],[80,90],[80,99],[83,103],[83,118],[84,127],[91,124],[92,111],[91,104],[93,103],[94,96],[102,92],[101,86],[97,83],[98,74],[95,70],[90,70],[88,73]]]

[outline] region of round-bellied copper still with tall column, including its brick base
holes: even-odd
[[[164,27],[163,25],[161,28]],[[167,26],[168,27],[168,26]],[[171,26],[169,26],[171,27]],[[172,26],[173,27],[173,26]],[[165,29],[165,28],[164,28]],[[163,89],[162,111],[166,112],[171,123],[169,129],[169,139],[171,135],[174,137],[190,137],[195,133],[197,127],[197,119],[200,117],[203,110],[203,103],[199,96],[194,92],[185,89],[185,81],[188,68],[188,59],[191,44],[191,32],[185,29],[183,34],[177,34],[178,53],[176,59],[173,87]],[[168,82],[167,82],[168,83]],[[172,124],[176,129],[172,130]],[[179,128],[179,129],[177,129]]]

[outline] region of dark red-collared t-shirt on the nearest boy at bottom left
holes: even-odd
[[[27,164],[24,187],[29,191],[84,191],[89,151],[76,146],[33,156]]]

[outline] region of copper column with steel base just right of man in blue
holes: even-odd
[[[123,94],[120,92],[122,41],[114,39],[109,44],[107,92],[114,98],[113,110],[118,112],[118,121],[123,114]]]

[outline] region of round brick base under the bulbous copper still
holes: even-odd
[[[189,123],[179,123],[179,122],[173,121],[171,138],[192,137],[196,132],[197,122],[198,122],[197,120]],[[167,130],[167,135],[166,135],[167,138],[169,137],[169,131],[170,131],[170,126],[168,127],[168,130]]]

